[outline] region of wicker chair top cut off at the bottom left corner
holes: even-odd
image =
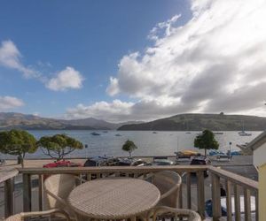
[[[56,215],[63,217],[67,221],[70,220],[70,218],[68,217],[65,211],[53,209],[53,210],[47,210],[47,211],[21,212],[19,214],[6,218],[5,221],[24,221],[24,220],[27,220],[27,218],[29,217],[49,217],[49,220],[50,220],[52,216],[56,217]]]

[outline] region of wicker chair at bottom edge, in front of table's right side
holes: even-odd
[[[171,217],[171,220],[201,221],[200,215],[193,210],[158,207],[153,211],[153,221],[164,216]]]

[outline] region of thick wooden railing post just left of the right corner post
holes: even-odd
[[[198,211],[202,219],[205,218],[205,192],[204,192],[204,174],[203,171],[197,171],[198,179]]]

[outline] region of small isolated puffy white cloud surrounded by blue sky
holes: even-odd
[[[68,66],[65,70],[58,72],[55,78],[51,78],[46,87],[55,91],[64,91],[70,88],[79,89],[82,88],[82,80],[82,74]]]

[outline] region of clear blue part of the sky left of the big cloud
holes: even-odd
[[[82,88],[52,91],[12,68],[0,67],[0,95],[25,103],[15,109],[60,116],[78,103],[113,98],[106,94],[111,74],[129,51],[144,50],[150,29],[184,13],[186,1],[2,1],[0,41],[11,40],[24,65],[50,76],[72,66],[81,72]],[[180,21],[182,22],[182,21]],[[121,95],[122,100],[129,97]]]

